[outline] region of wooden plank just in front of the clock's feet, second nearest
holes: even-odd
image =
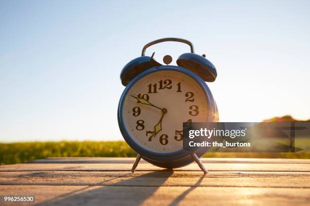
[[[118,185],[310,188],[309,172],[0,172],[1,185]],[[199,185],[197,183],[199,182]]]

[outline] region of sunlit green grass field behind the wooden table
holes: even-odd
[[[0,164],[24,163],[48,157],[135,157],[125,141],[61,141],[0,143]],[[299,153],[220,153],[209,158],[299,158],[310,159],[310,152]]]

